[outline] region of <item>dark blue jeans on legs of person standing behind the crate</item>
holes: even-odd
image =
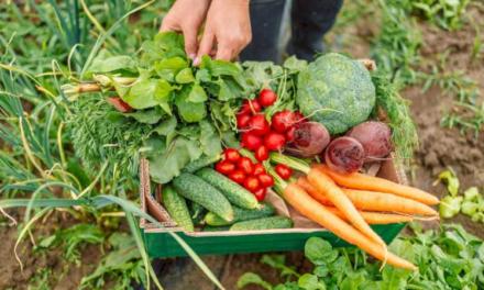
[[[334,24],[343,0],[251,0],[252,43],[242,51],[242,60],[280,62],[282,24],[290,2],[286,52],[307,60],[322,52],[322,36]]]

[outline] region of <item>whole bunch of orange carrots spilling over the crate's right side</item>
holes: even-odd
[[[438,219],[430,205],[438,204],[439,199],[378,177],[342,175],[322,164],[309,167],[304,160],[282,154],[272,154],[271,159],[306,174],[289,183],[274,175],[276,190],[299,213],[384,263],[416,269],[410,261],[389,253],[370,224]]]

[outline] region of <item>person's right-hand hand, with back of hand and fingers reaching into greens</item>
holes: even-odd
[[[212,0],[207,13],[204,35],[194,64],[204,55],[231,60],[251,42],[249,0]]]

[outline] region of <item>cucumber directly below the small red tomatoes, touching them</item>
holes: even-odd
[[[219,189],[232,204],[249,210],[260,207],[254,194],[216,170],[206,167],[198,170],[196,175]]]

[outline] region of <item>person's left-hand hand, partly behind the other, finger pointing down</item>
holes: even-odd
[[[204,22],[210,0],[176,0],[162,22],[161,31],[182,32],[185,52],[194,59],[198,51],[198,30]]]

